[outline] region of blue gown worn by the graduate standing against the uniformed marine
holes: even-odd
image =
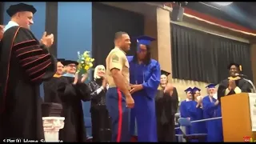
[[[160,65],[154,59],[150,60],[148,66],[132,62],[133,56],[127,59],[130,64],[130,83],[143,85],[143,90],[132,94],[134,108],[130,110],[130,134],[134,134],[137,122],[138,142],[157,142],[154,96],[160,83]]]

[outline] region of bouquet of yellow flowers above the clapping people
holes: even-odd
[[[90,58],[90,51],[80,54],[78,51],[78,73],[86,74],[93,65],[94,58]]]

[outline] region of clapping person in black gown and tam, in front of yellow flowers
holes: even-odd
[[[82,78],[78,77],[78,62],[66,60],[62,64],[66,68],[66,74],[58,81],[58,97],[62,101],[65,126],[59,131],[59,139],[63,142],[86,142],[81,100],[90,101],[90,89],[85,83],[87,74],[83,74]]]

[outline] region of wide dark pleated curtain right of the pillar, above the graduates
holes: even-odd
[[[251,80],[250,45],[184,26],[172,27],[173,78],[218,83],[228,77],[230,62],[242,65]]]

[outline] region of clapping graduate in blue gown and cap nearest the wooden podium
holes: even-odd
[[[214,98],[215,85],[206,86],[208,95],[202,98],[204,118],[217,118],[222,116],[218,99]],[[207,142],[223,142],[222,119],[206,121]]]

